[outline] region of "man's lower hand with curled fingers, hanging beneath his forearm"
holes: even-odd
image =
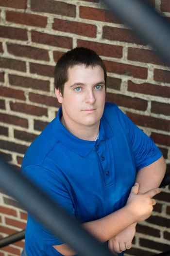
[[[132,247],[132,240],[136,234],[136,223],[130,225],[117,236],[112,237],[108,242],[111,252],[122,253]]]

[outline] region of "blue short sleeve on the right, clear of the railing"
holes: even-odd
[[[159,159],[162,153],[151,138],[140,130],[121,110],[120,112],[136,161],[136,170],[139,171]]]

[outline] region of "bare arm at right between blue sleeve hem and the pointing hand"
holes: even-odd
[[[142,168],[137,176],[136,182],[139,183],[139,193],[159,187],[166,171],[166,163],[163,157],[152,164]]]

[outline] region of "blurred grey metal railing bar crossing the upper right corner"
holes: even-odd
[[[170,23],[147,0],[103,0],[112,13],[170,64]]]

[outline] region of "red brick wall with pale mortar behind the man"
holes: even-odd
[[[170,17],[169,0],[150,2]],[[19,167],[27,147],[55,117],[54,65],[76,46],[102,57],[107,98],[154,139],[170,173],[170,68],[99,0],[0,0],[0,153]],[[169,188],[156,198],[152,217],[137,227],[129,255],[170,249]],[[26,213],[1,191],[0,237],[25,223]],[[23,244],[1,249],[0,256],[19,255]]]

